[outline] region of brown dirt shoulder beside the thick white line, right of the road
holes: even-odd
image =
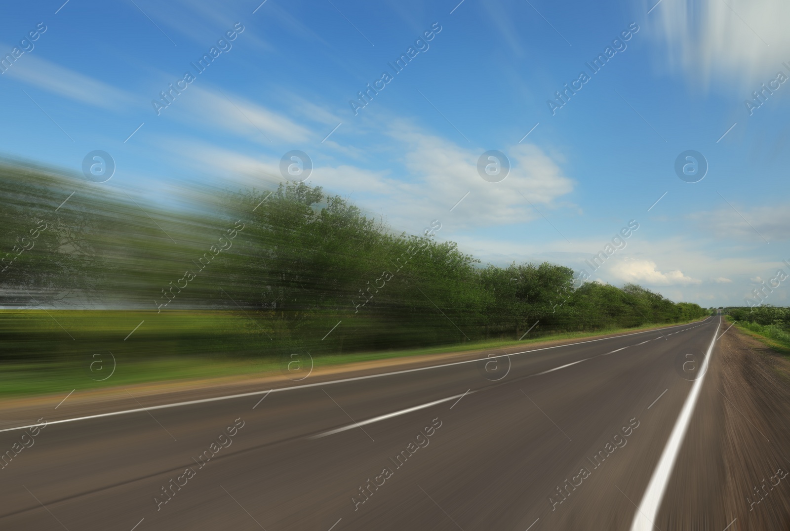
[[[724,411],[727,521],[737,518],[731,529],[790,529],[790,475],[781,477],[790,473],[790,358],[735,327],[716,356],[705,385],[717,387]]]

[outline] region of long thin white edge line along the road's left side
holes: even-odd
[[[710,317],[705,318],[705,321],[707,321],[709,318]],[[702,322],[705,322],[705,321],[702,321]],[[683,325],[677,325],[677,326],[683,326]],[[668,328],[675,328],[675,326],[668,326]],[[668,329],[662,329],[662,330],[668,330]],[[570,346],[574,346],[574,345],[584,345],[585,343],[594,343],[595,341],[604,341],[604,340],[607,340],[607,339],[615,339],[616,337],[635,336],[635,335],[638,335],[640,333],[648,333],[648,332],[655,332],[655,331],[656,330],[644,330],[642,332],[626,333],[626,334],[623,334],[622,336],[600,337],[598,339],[590,339],[588,341],[579,341],[577,343],[567,343],[566,345],[554,345],[553,347],[535,348],[535,349],[532,349],[532,350],[525,350],[525,351],[521,351],[521,352],[511,352],[510,354],[501,354],[499,356],[491,356],[491,357],[488,357],[488,358],[480,358],[480,359],[476,359],[476,360],[455,361],[453,363],[441,363],[439,365],[431,365],[430,367],[416,367],[414,369],[403,369],[401,371],[382,372],[382,373],[378,373],[376,375],[353,376],[352,378],[340,378],[339,380],[331,380],[329,382],[304,383],[304,384],[302,384],[300,386],[279,387],[279,388],[276,388],[276,389],[273,389],[273,390],[269,390],[269,391],[252,391],[250,393],[228,394],[228,395],[224,395],[222,397],[201,398],[199,400],[190,400],[190,401],[185,401],[185,402],[175,402],[173,404],[152,405],[152,406],[150,406],[148,408],[145,408],[145,409],[126,409],[124,411],[114,411],[114,412],[108,412],[108,413],[99,413],[99,414],[96,414],[96,415],[78,416],[78,417],[75,417],[73,419],[51,420],[51,421],[49,421],[47,423],[47,426],[50,425],[50,424],[62,424],[62,423],[66,423],[66,422],[76,422],[77,420],[99,419],[99,418],[102,418],[104,416],[126,415],[127,413],[137,413],[137,412],[141,412],[141,411],[154,411],[156,409],[177,408],[177,407],[180,407],[182,405],[205,404],[207,402],[216,402],[216,401],[221,401],[221,400],[231,400],[233,398],[254,397],[254,396],[258,396],[259,394],[265,394],[265,393],[279,393],[281,391],[292,391],[292,390],[298,390],[298,389],[307,389],[308,387],[329,386],[329,385],[332,385],[334,383],[356,382],[358,380],[367,380],[368,378],[382,378],[383,376],[404,375],[404,374],[406,374],[408,372],[428,371],[430,369],[439,369],[439,368],[442,368],[442,367],[453,367],[453,365],[462,365],[464,363],[477,363],[477,362],[479,362],[481,360],[486,360],[486,361],[495,360],[496,358],[502,358],[502,357],[506,357],[506,356],[517,356],[519,354],[529,354],[530,352],[540,352],[541,350],[551,350],[551,348],[562,348],[562,347],[570,347]],[[626,347],[623,347],[623,348],[626,348]],[[585,358],[585,360],[589,360],[589,358]],[[585,360],[581,360],[581,361],[585,361]],[[581,363],[581,361],[577,361],[577,362],[574,362],[574,363]],[[569,363],[568,365],[574,365],[574,363]],[[562,367],[568,367],[568,365],[563,365]],[[562,367],[558,367],[558,368],[562,368]],[[552,371],[554,371],[554,370],[556,370],[556,369],[552,369]],[[540,373],[540,374],[545,374],[545,373]],[[38,424],[28,424],[27,426],[6,427],[6,429],[0,430],[0,433],[2,433],[4,431],[26,430],[26,429],[28,429],[28,427],[35,427],[37,425]]]

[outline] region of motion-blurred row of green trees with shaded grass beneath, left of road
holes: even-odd
[[[0,312],[5,362],[329,356],[709,313],[635,284],[574,289],[573,270],[547,262],[482,266],[303,183],[152,204],[6,163],[0,201],[0,305],[15,308]]]

